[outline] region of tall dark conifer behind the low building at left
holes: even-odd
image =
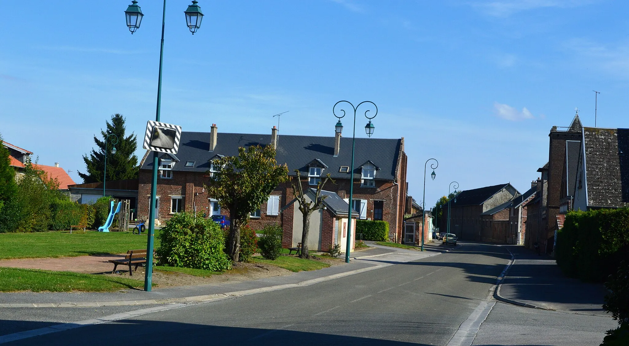
[[[116,153],[111,154],[111,148],[114,146],[111,144],[111,140],[115,138],[114,136],[109,137],[109,143],[107,144],[109,151],[107,153],[107,180],[135,179],[138,177],[138,157],[133,154],[138,146],[138,139],[133,132],[131,132],[130,136],[125,137],[125,117],[116,113],[111,116],[111,123],[109,121],[106,122],[105,131],[101,129],[103,139],[101,140],[94,136],[97,151],[92,149],[89,157],[83,155],[87,173],[78,173],[85,183],[103,181],[105,139],[109,134],[118,136],[118,143],[114,144]]]

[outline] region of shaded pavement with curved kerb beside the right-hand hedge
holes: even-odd
[[[504,246],[514,256],[496,293],[509,303],[587,315],[611,316],[603,310],[603,284],[567,278],[555,259],[523,246]],[[509,301],[510,300],[510,301]]]

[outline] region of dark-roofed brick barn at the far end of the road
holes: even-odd
[[[482,214],[510,202],[519,195],[520,192],[510,183],[462,191],[454,200],[443,205],[443,216],[439,230],[446,232],[448,229],[447,224],[450,218],[448,205],[452,203],[450,206],[452,213],[450,233],[456,234],[462,240],[481,241],[483,234],[487,236],[491,230],[491,223],[488,219],[483,219],[484,215]]]

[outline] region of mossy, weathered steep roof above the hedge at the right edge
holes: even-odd
[[[629,129],[583,127],[590,207],[629,206]]]

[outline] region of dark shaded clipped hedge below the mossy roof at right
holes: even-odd
[[[555,256],[567,276],[605,281],[629,260],[629,208],[569,212],[557,232]]]

